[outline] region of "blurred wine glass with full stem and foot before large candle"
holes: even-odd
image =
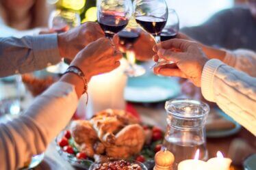
[[[127,76],[141,76],[146,72],[146,70],[136,64],[136,55],[133,51],[133,44],[140,38],[140,31],[137,29],[127,28],[118,33],[119,44],[123,51],[126,51],[127,61],[129,63],[129,67],[125,70],[125,74]]]

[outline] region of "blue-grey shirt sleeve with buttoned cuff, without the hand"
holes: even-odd
[[[0,38],[0,77],[41,70],[60,60],[57,34]]]

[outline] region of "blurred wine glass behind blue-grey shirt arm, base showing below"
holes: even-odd
[[[51,12],[49,17],[49,29],[52,29],[57,33],[63,33],[69,29],[79,26],[80,24],[81,18],[79,14],[68,10],[54,10]],[[67,68],[68,65],[64,63],[64,59],[62,59],[62,61],[57,65],[48,67],[47,71],[63,74]]]

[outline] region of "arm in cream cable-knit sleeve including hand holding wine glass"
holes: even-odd
[[[256,78],[235,70],[216,59],[207,59],[201,46],[185,40],[170,40],[155,47],[157,55],[174,61],[177,67],[154,68],[156,74],[190,79],[202,88],[205,99],[218,106],[256,135]],[[179,48],[174,53],[168,48]],[[159,49],[159,50],[157,50]]]

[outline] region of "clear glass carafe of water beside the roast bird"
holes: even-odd
[[[175,166],[193,159],[196,150],[200,151],[199,159],[207,160],[205,122],[209,106],[197,100],[175,99],[167,101],[165,109],[168,128],[164,146],[175,155]]]

